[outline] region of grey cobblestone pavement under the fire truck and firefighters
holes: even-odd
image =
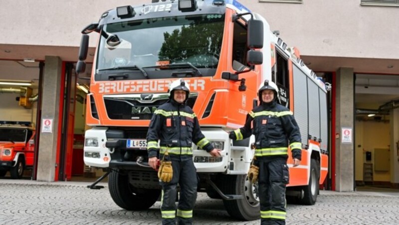
[[[160,224],[160,202],[149,210],[130,212],[112,201],[107,187],[90,190],[86,188],[88,184],[0,179],[0,224]],[[260,224],[259,220],[239,222],[231,219],[220,200],[209,199],[203,193],[199,193],[194,220],[200,225]],[[397,225],[398,222],[398,192],[320,191],[314,206],[287,206],[287,224]]]

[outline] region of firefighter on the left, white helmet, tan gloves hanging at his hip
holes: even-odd
[[[147,133],[148,163],[156,169],[160,140],[161,166],[158,177],[162,185],[162,224],[193,224],[193,207],[197,199],[197,171],[193,162],[194,142],[212,157],[220,157],[200,130],[196,114],[186,105],[190,89],[179,79],[169,87],[169,100],[154,112]],[[180,199],[176,211],[177,185]]]

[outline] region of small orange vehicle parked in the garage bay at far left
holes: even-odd
[[[0,177],[20,179],[33,167],[35,130],[30,122],[0,121]]]

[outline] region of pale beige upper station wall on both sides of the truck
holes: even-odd
[[[56,3],[55,3],[56,2]],[[111,8],[151,0],[1,0],[0,43],[79,46],[80,31]],[[262,14],[302,55],[399,58],[398,7],[360,0],[304,0],[302,4],[240,0]],[[94,46],[96,38],[91,38]]]

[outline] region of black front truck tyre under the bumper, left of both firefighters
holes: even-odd
[[[147,210],[158,200],[161,190],[135,188],[129,183],[129,176],[112,170],[108,179],[112,199],[125,210]]]

